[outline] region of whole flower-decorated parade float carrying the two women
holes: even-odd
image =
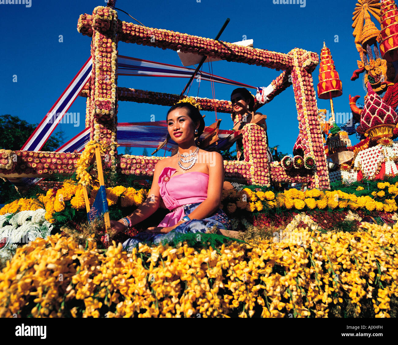
[[[365,73],[368,93],[363,109],[359,96],[349,97],[362,136],[352,146],[353,131],[336,125],[332,98],[341,96],[342,82],[325,44],[319,59],[299,48],[278,53],[145,27],[119,20],[114,2],[82,14],[77,28],[92,40],[91,57],[49,113],[58,120],[66,103],[86,97],[86,129],[56,152],[41,152],[57,123],[45,118],[21,150],[0,150],[0,176],[21,193],[0,210],[0,316],[395,317],[396,16],[394,1],[360,0],[355,8],[361,61],[352,79]],[[259,89],[257,108],[293,87],[299,135],[291,156],[269,161],[265,128],[255,122],[222,131],[216,117],[199,138],[198,146],[209,151],[243,142],[244,161],[224,160],[225,180],[241,186],[222,193],[234,231],[213,229],[199,239],[185,235],[126,253],[121,242],[160,221],[166,208],[110,246],[100,241],[107,234],[103,220],[87,221],[100,166],[109,216],[119,219],[148,197],[144,180],[163,159],[118,154],[118,144],[137,140],[134,126],[162,129],[161,136],[148,129],[156,146],[167,134],[165,121],[117,123],[118,102],[170,107],[182,96],[118,86],[118,73],[132,63],[119,55],[119,41],[283,71]],[[330,99],[331,121],[317,106],[312,73],[318,64],[318,97]],[[195,102],[232,113],[227,100]],[[176,144],[157,147],[175,152]]]

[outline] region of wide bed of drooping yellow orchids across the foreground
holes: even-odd
[[[301,228],[278,242],[140,245],[130,254],[115,242],[106,253],[84,250],[56,234],[8,261],[0,317],[395,317],[397,230]]]

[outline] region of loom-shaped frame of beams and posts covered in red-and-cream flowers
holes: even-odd
[[[273,99],[287,87],[293,85],[299,128],[296,146],[299,145],[304,152],[303,161],[312,162],[313,160],[314,164],[312,166],[308,164],[297,166],[294,164],[293,169],[289,170],[285,169],[280,162],[269,162],[266,153],[265,130],[260,125],[250,123],[240,130],[245,160],[224,161],[226,179],[248,185],[269,186],[271,183],[304,183],[310,188],[329,189],[326,156],[312,80],[312,72],[319,63],[318,54],[298,48],[287,54],[277,53],[127,23],[117,18],[117,11],[113,8],[104,6],[94,8],[92,15],[80,15],[78,31],[83,35],[92,37],[92,73],[86,90],[82,92],[81,96],[87,97],[86,128],[90,127],[90,140],[98,140],[109,145],[104,157],[106,158],[104,159],[104,166],[111,169],[120,168],[122,173],[139,174],[142,177],[147,177],[153,175],[154,165],[159,158],[117,155],[118,99],[159,104],[156,97],[147,97],[148,95],[145,92],[140,95],[135,94],[134,97],[128,97],[129,94],[132,95],[133,93],[131,89],[117,87],[117,44],[122,41],[283,70],[271,83],[273,91],[268,95],[268,99]],[[170,95],[164,94],[163,96],[167,98]],[[198,101],[199,103],[202,102],[201,99],[198,99]],[[207,108],[205,102],[203,100],[204,109]],[[230,107],[226,107],[224,102],[226,101],[218,101],[217,108],[220,106],[224,112],[228,112]],[[161,104],[170,106],[172,103],[174,103],[174,99],[169,97],[169,101],[162,101]],[[15,154],[20,158],[18,164],[14,164],[8,169],[4,164],[4,168],[0,167],[0,175],[8,178],[20,178],[47,177],[53,173],[70,173],[75,169],[79,156],[79,154],[73,154],[72,157],[70,156],[72,154],[57,154],[55,152],[45,155],[27,151],[16,151]],[[8,157],[9,153],[5,153],[5,155]],[[1,158],[2,154],[0,153]],[[28,161],[29,159],[30,161]],[[54,167],[52,170],[46,168],[46,173],[43,175],[44,161],[48,162],[48,160]],[[64,162],[64,160],[68,162]],[[33,164],[35,164],[35,167],[33,167]],[[41,173],[37,169],[41,169]]]

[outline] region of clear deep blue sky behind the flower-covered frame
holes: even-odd
[[[348,95],[360,95],[363,104],[362,78],[355,82],[350,77],[359,54],[352,35],[352,13],[355,0],[307,0],[300,5],[273,4],[273,0],[152,0],[138,2],[118,0],[116,7],[128,12],[144,25],[158,29],[169,29],[214,38],[226,18],[230,23],[220,40],[235,42],[244,35],[254,39],[254,47],[288,53],[295,47],[320,54],[325,40],[343,82],[343,96],[334,99],[335,111],[349,112]],[[1,72],[0,114],[12,114],[29,123],[39,123],[49,111],[66,86],[90,56],[90,38],[78,33],[76,26],[80,14],[91,14],[96,6],[106,5],[100,0],[44,1],[31,0],[25,5],[0,5],[1,28]],[[123,12],[119,19],[134,22]],[[375,19],[373,18],[374,22]],[[379,24],[376,22],[377,27]],[[63,35],[63,43],[59,42]],[[338,35],[338,42],[335,42]],[[175,51],[162,50],[136,44],[119,43],[119,54],[182,66]],[[209,66],[203,66],[209,72]],[[318,83],[318,67],[314,71],[315,87]],[[213,73],[252,86],[268,86],[281,72],[264,67],[236,62],[213,63]],[[18,82],[12,82],[12,76]],[[188,79],[120,76],[118,85],[156,92],[180,94]],[[189,96],[197,96],[198,84],[194,81]],[[233,86],[215,84],[215,96],[229,99]],[[250,91],[255,94],[254,89]],[[210,82],[201,82],[200,97],[212,98]],[[330,109],[328,100],[317,99],[318,108]],[[64,139],[69,140],[84,129],[86,99],[78,97],[70,112],[80,113],[80,126],[60,124]],[[165,120],[168,108],[144,103],[119,102],[119,122]],[[267,115],[270,145],[279,145],[279,150],[292,153],[298,135],[297,111],[290,87],[275,97],[261,110]],[[215,121],[214,112],[206,114],[206,125]],[[220,129],[231,129],[229,114],[218,113]],[[350,136],[358,142],[355,135]],[[26,138],[27,139],[27,138]],[[147,149],[149,154],[154,149]],[[143,148],[133,148],[133,154],[142,154]],[[124,148],[119,148],[124,153]],[[156,155],[164,156],[164,150]],[[170,156],[170,152],[166,152]]]

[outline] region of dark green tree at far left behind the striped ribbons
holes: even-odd
[[[37,125],[21,120],[17,116],[0,115],[0,148],[20,150],[36,127]],[[59,131],[47,140],[41,151],[55,151],[62,143],[63,132]],[[14,196],[17,196],[14,185],[0,179],[0,204],[10,201]]]

